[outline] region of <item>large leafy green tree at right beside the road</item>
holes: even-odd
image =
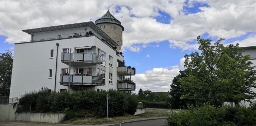
[[[239,44],[220,44],[223,40],[212,45],[212,40],[197,37],[201,54],[192,52],[184,56],[188,76],[178,82],[187,94],[182,94],[181,99],[221,106],[223,102],[238,104],[240,100],[255,96],[250,88],[256,87],[256,71],[249,55],[242,56]]]

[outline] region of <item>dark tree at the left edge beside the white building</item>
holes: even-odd
[[[3,60],[0,60],[0,96],[9,96],[13,67],[12,52],[7,50],[0,55],[3,57]]]

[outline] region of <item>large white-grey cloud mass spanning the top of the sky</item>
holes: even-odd
[[[209,7],[200,7],[201,12],[186,15],[183,7],[193,7],[196,2],[207,3]],[[121,8],[118,13],[116,6]],[[197,43],[189,42],[206,32],[209,36],[229,39],[256,31],[255,0],[189,0],[187,5],[186,0],[1,0],[0,35],[6,36],[8,43],[29,40],[30,36],[21,30],[95,21],[108,8],[125,27],[123,48],[133,52],[163,40],[168,40],[171,48],[197,49]],[[171,15],[170,24],[157,22],[159,10]]]

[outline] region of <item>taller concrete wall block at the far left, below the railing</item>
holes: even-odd
[[[0,105],[0,121],[13,121],[15,118],[14,113],[16,112],[16,107],[14,109],[13,105]]]

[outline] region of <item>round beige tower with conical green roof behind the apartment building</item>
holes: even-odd
[[[104,14],[101,18],[95,21],[95,24],[108,36],[110,36],[119,46],[116,46],[118,52],[122,52],[123,44],[123,31],[124,27],[121,22],[117,20],[109,11]]]

